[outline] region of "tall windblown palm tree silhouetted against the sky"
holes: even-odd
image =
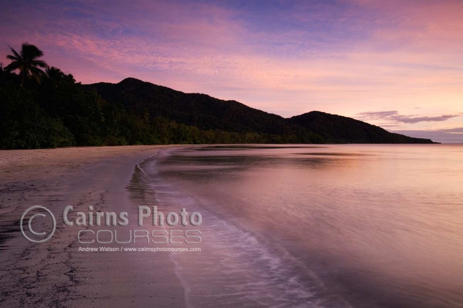
[[[13,55],[8,54],[6,57],[12,61],[5,67],[5,70],[9,72],[19,70],[19,76],[22,77],[21,86],[26,78],[35,79],[37,83],[40,83],[42,77],[45,76],[45,72],[39,68],[48,68],[45,61],[37,60],[38,57],[43,55],[42,51],[36,46],[27,43],[22,44],[21,54],[18,54],[11,47],[10,49]]]

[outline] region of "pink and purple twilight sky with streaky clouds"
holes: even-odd
[[[462,0],[0,0],[3,66],[28,42],[84,84],[135,77],[443,143],[463,143],[462,41]]]

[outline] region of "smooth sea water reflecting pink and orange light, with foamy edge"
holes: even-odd
[[[188,307],[463,307],[463,145],[198,146],[139,164]]]

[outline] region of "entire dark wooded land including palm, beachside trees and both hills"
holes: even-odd
[[[11,63],[0,69],[1,149],[155,144],[432,143],[323,112],[284,119],[235,101],[186,94],[134,78],[118,84],[82,85],[71,74],[39,60],[42,52],[34,45],[23,44],[20,53],[14,49],[11,52],[7,56]],[[356,121],[354,125],[350,120]]]

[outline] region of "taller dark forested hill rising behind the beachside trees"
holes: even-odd
[[[236,101],[224,101],[206,94],[186,94],[135,78],[126,78],[117,84],[100,82],[85,87],[95,89],[109,102],[122,103],[124,108],[149,112],[151,117],[160,116],[200,129],[288,134],[298,127],[279,115]]]

